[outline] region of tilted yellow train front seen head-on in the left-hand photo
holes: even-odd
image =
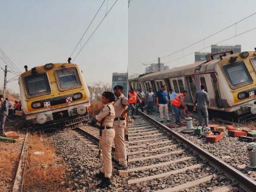
[[[25,68],[19,85],[26,120],[43,126],[88,114],[90,92],[79,66],[48,63]]]

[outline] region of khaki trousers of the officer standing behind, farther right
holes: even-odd
[[[126,143],[124,141],[124,129],[126,129],[126,121],[118,120],[114,121],[113,127],[115,129],[115,160],[123,166],[127,166],[127,152],[126,152]]]

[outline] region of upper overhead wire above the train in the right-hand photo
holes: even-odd
[[[206,40],[207,38],[213,37],[214,35],[219,34],[220,32],[222,32],[222,31],[224,31],[224,30],[226,30],[226,29],[229,29],[229,28],[232,27],[232,26],[236,26],[236,24],[241,23],[241,21],[244,21],[244,20],[246,20],[247,18],[250,18],[250,17],[253,16],[253,15],[256,15],[256,12],[255,12],[255,13],[252,13],[252,14],[249,15],[249,16],[246,16],[245,18],[243,18],[243,19],[240,20],[240,21],[236,21],[236,23],[233,23],[233,24],[231,24],[231,25],[225,27],[224,29],[218,30],[217,32],[215,32],[215,33],[212,34],[212,35],[208,35],[207,37],[202,38],[201,40],[196,41],[195,43],[189,44],[188,46],[185,46],[185,47],[182,48],[182,49],[179,49],[179,50],[177,50],[177,51],[171,52],[171,54],[168,54],[168,55],[165,55],[165,56],[163,56],[163,57],[160,57],[160,59],[165,59],[166,57],[169,57],[169,56],[171,56],[171,55],[173,55],[173,54],[176,54],[176,53],[178,53],[178,52],[180,52],[180,51],[183,51],[184,49],[190,48],[191,46],[193,46],[193,45],[195,45],[195,44],[197,44],[197,43],[200,43],[201,41],[204,41],[204,40]],[[237,36],[237,35],[236,35],[236,36]],[[157,61],[157,60],[153,60],[152,62],[148,62],[148,63],[153,63],[153,62],[155,62],[155,61]]]

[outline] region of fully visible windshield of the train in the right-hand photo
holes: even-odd
[[[229,82],[233,87],[252,82],[252,77],[244,62],[230,63],[229,65],[224,65],[223,69],[226,73],[227,79],[229,79]]]

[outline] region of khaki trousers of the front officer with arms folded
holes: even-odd
[[[103,129],[102,136],[99,138],[101,142],[103,165],[101,172],[105,174],[105,177],[110,178],[112,176],[112,144],[115,138],[114,129]]]

